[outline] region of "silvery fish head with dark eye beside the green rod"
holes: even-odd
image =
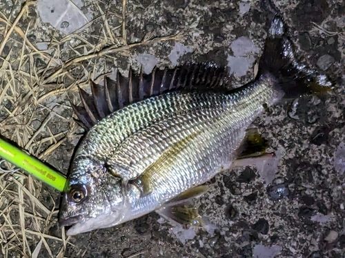
[[[60,226],[69,227],[67,235],[120,224],[126,207],[121,180],[110,175],[101,162],[72,162],[59,213]]]

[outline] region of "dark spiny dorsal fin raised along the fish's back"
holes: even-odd
[[[214,63],[181,65],[155,69],[137,75],[129,69],[128,78],[117,72],[116,80],[104,78],[104,86],[90,81],[92,94],[79,88],[81,106],[72,105],[81,127],[90,129],[109,114],[140,100],[179,89],[226,91],[230,78],[226,67]]]

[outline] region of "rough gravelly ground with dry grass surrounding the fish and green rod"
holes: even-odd
[[[0,257],[345,257],[345,164],[334,165],[345,157],[343,1],[128,0],[125,13],[122,1],[55,2],[0,3],[0,133],[64,174],[83,132],[70,108],[77,85],[88,89],[89,78],[130,65],[150,72],[190,61],[227,65],[243,85],[255,74],[272,6],[299,56],[335,89],[257,118],[279,153],[271,173],[247,166],[217,175],[196,200],[207,228],[176,228],[151,213],[66,238],[59,193],[21,172],[0,174]]]

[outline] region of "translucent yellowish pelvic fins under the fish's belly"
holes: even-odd
[[[203,226],[204,221],[199,211],[192,204],[192,199],[206,193],[208,186],[201,185],[181,193],[156,211],[172,224]]]

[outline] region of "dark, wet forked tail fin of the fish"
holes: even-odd
[[[271,22],[257,75],[267,72],[278,79],[277,87],[284,91],[284,98],[327,92],[333,85],[326,75],[297,60],[295,48],[279,14]]]

